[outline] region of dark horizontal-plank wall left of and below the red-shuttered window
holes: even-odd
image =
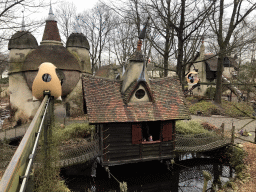
[[[109,123],[101,127],[102,164],[104,166],[154,159],[161,160],[171,158],[173,155],[173,141],[132,144],[132,123]]]

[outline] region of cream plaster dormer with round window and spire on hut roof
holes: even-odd
[[[139,40],[137,50],[129,59],[129,65],[122,77],[121,93],[126,104],[153,101],[141,45]]]

